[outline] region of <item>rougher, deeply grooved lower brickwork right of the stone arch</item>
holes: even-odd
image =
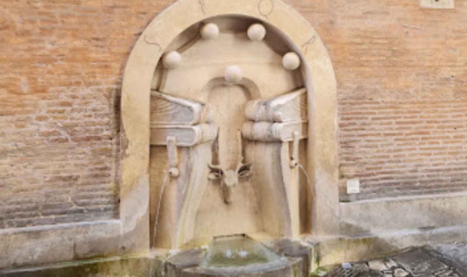
[[[467,103],[458,98],[341,99],[340,178],[359,199],[458,192],[467,180]]]

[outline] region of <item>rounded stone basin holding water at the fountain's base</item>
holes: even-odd
[[[302,277],[301,257],[287,257],[247,235],[215,237],[209,249],[180,252],[167,259],[167,276]]]

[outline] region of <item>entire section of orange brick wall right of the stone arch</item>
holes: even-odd
[[[466,191],[467,1],[331,1],[341,199]],[[318,30],[320,31],[320,30]]]

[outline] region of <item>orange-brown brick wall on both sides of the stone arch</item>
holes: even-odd
[[[465,190],[467,1],[287,2],[333,61],[341,196]],[[0,228],[117,216],[122,71],[170,3],[0,3]]]

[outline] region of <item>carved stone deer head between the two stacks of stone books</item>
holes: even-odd
[[[218,143],[217,139],[216,143]],[[221,164],[208,164],[209,168],[211,169],[211,172],[208,174],[208,178],[210,180],[220,180],[222,196],[226,204],[232,203],[232,188],[238,184],[239,178],[248,177],[251,175],[251,162],[243,163],[241,132],[238,134],[238,144],[239,154],[235,168],[226,168],[226,166]]]

